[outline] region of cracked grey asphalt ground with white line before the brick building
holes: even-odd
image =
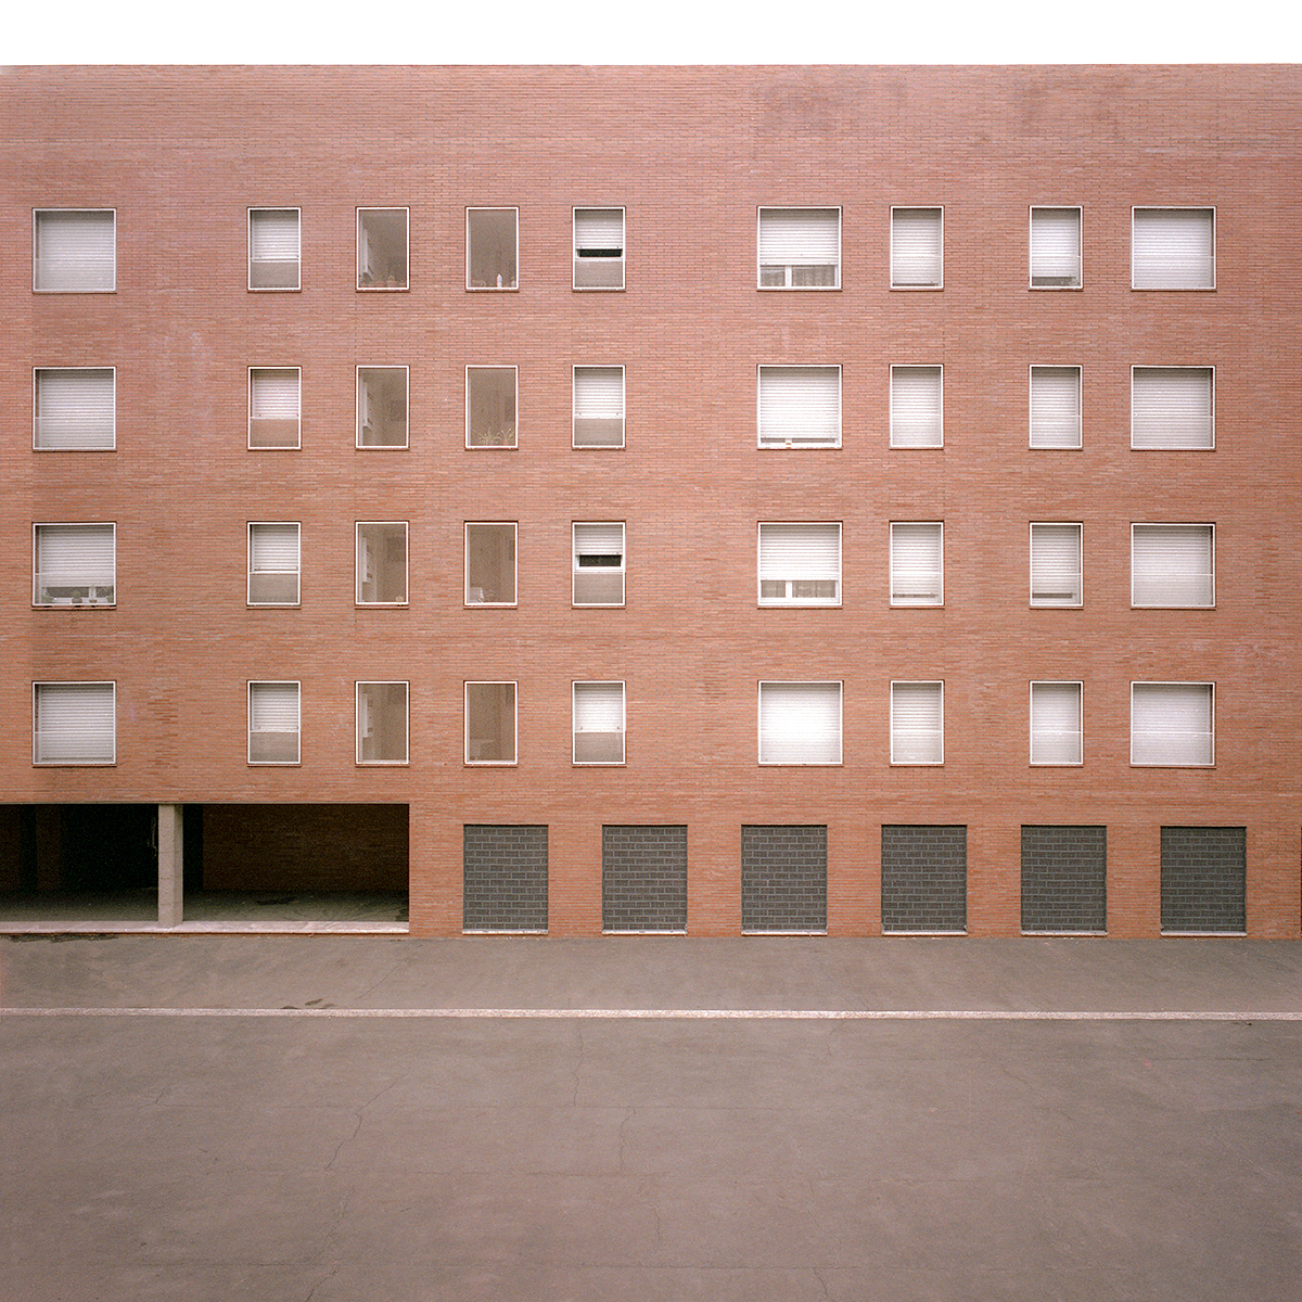
[[[0,1005],[7,1302],[1302,1292],[1297,943],[34,936]]]

